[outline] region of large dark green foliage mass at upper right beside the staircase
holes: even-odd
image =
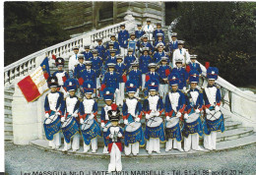
[[[256,84],[256,3],[179,3],[175,31],[199,61],[210,61],[237,86]]]

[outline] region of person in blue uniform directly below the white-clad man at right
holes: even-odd
[[[176,57],[175,59],[176,67],[172,69],[172,72],[179,75],[180,82],[179,82],[178,88],[180,90],[185,91],[187,87],[188,73],[185,70],[185,68],[182,68],[182,61],[183,61],[182,57],[183,57],[182,55],[179,55],[178,57]]]

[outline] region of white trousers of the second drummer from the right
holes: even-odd
[[[200,150],[201,147],[199,146],[199,135],[193,134],[193,135],[188,135],[188,138],[184,137],[184,150],[189,151],[191,149],[194,150]]]

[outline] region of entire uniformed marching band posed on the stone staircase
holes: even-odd
[[[62,131],[63,151],[78,150],[82,137],[84,152],[96,152],[97,137],[103,137],[103,153],[110,152],[108,171],[122,170],[122,145],[126,155],[137,155],[145,144],[149,154],[160,153],[160,142],[165,151],[200,151],[199,138],[204,137],[204,147],[216,149],[217,132],[224,132],[221,90],[215,84],[219,70],[207,69],[208,86],[202,88],[196,55],[189,55],[176,33],[167,45],[160,23],[155,30],[150,20],[135,32],[120,28],[118,41],[111,34],[106,47],[101,39],[93,51],[86,45],[79,54],[74,47],[67,72],[65,60],[55,60],[58,70],[47,80],[50,92],[44,103],[49,146],[61,146]],[[105,104],[97,121],[101,98]]]

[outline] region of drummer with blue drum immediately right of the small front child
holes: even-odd
[[[137,155],[140,145],[144,146],[145,143],[144,133],[140,123],[142,119],[142,104],[138,98],[135,97],[135,92],[138,88],[136,85],[137,83],[134,80],[130,80],[125,84],[128,98],[124,99],[122,113],[124,124],[126,125],[124,135],[124,152],[126,155],[130,155],[131,153]],[[130,128],[132,130],[130,130]]]

